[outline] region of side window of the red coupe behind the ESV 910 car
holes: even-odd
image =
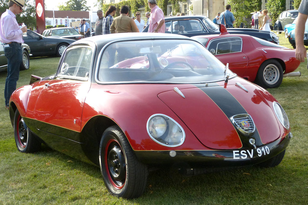
[[[241,52],[242,39],[240,37],[214,39],[210,41],[207,49],[213,55]]]

